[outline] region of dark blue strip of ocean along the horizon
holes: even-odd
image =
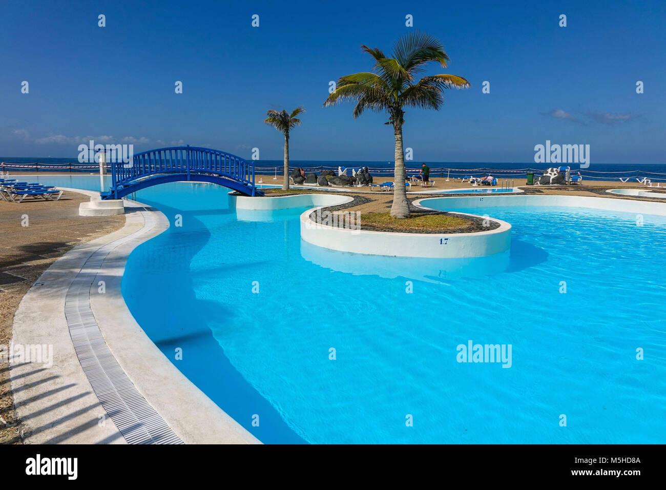
[[[41,157],[0,157],[1,165],[5,171],[39,171],[39,172],[87,172],[97,171],[97,165],[94,163],[79,163],[77,158],[41,158]],[[407,161],[408,172],[418,172],[422,161]],[[320,173],[324,170],[337,170],[338,167],[348,169],[359,169],[368,167],[372,175],[390,177],[393,175],[393,162],[389,161],[290,161],[290,167],[302,167],[306,172]],[[461,177],[464,175],[483,175],[492,173],[496,177],[515,177],[525,178],[527,172],[534,171],[541,173],[547,167],[557,167],[559,165],[543,164],[543,167],[537,167],[534,162],[426,162],[430,167],[432,177]],[[615,180],[615,179],[643,179],[647,177],[653,181],[666,181],[666,164],[655,163],[590,163],[589,167],[581,169],[580,165],[571,164],[571,171],[580,171],[584,179],[587,180]],[[282,173],[282,160],[257,160],[255,162],[255,173],[257,174],[275,174]]]

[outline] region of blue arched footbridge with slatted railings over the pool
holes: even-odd
[[[264,195],[254,185],[254,163],[210,148],[159,148],[133,155],[129,163],[109,163],[111,190],[102,199],[120,199],[167,182],[210,182],[245,195]]]

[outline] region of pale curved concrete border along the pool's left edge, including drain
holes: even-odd
[[[122,229],[53,263],[15,313],[13,344],[52,346],[53,355],[52,366],[11,365],[24,441],[260,443],[166,359],[127,309],[127,257],[168,221],[133,201],[125,217]]]

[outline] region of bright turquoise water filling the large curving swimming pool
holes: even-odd
[[[129,308],[264,442],[666,441],[666,217],[456,209],[513,225],[509,253],[456,261],[312,247],[302,209],[239,221],[214,185],[137,199],[171,226],[129,257]],[[511,345],[511,367],[459,363],[468,341]]]

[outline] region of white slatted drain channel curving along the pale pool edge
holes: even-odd
[[[139,393],[104,340],[90,306],[90,290],[109,253],[155,227],[152,213],[141,211],[141,230],[107,245],[91,255],[67,290],[65,317],[74,349],[88,381],[104,409],[129,444],[182,444],[164,419]]]

